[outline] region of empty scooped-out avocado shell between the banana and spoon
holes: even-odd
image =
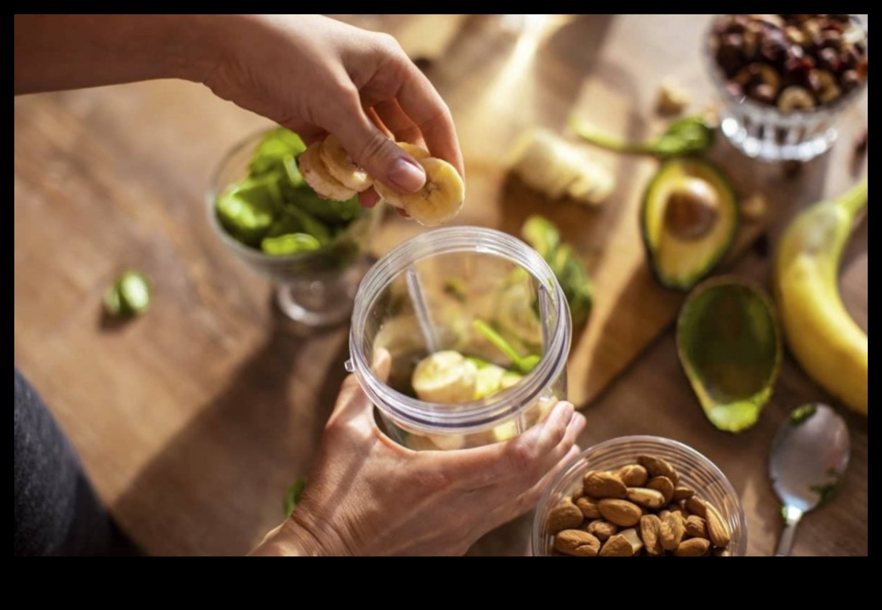
[[[736,433],[757,423],[781,367],[781,332],[764,290],[731,277],[701,283],[680,309],[676,346],[712,424]]]

